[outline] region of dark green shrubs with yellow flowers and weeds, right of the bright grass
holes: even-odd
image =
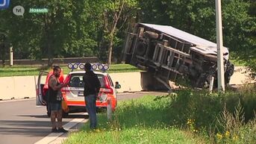
[[[169,96],[172,125],[209,137],[212,143],[256,143],[254,88],[226,93],[184,89]]]

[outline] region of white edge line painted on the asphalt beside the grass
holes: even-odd
[[[77,125],[79,122],[87,122],[88,119],[72,119],[72,121],[66,123],[66,125],[63,125],[63,128],[66,130],[69,130],[70,128],[74,127]],[[44,137],[43,139],[37,141],[37,143],[34,144],[46,144],[46,143],[51,143],[52,141],[56,140],[57,137],[60,137],[63,133],[51,133],[48,136]]]

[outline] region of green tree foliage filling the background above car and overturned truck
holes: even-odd
[[[13,14],[16,5],[25,7],[24,16]],[[256,72],[255,5],[252,0],[223,0],[222,23],[224,46]],[[28,13],[42,7],[49,13]],[[15,59],[48,57],[49,65],[53,57],[121,60],[126,32],[136,22],[171,25],[216,42],[215,1],[207,0],[16,0],[0,10],[0,20]]]

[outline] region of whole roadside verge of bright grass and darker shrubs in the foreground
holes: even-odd
[[[256,89],[207,93],[178,90],[168,96],[122,101],[99,129],[88,124],[64,143],[256,143]]]

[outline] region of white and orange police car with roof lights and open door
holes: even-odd
[[[86,111],[85,101],[84,101],[84,63],[69,63],[68,64],[69,72],[68,75],[64,78],[63,73],[60,74],[60,83],[68,83],[66,87],[61,89],[63,94],[63,101],[65,101],[68,110],[63,110],[63,114],[67,115],[68,113],[75,113]],[[76,70],[75,70],[76,69]],[[78,69],[78,70],[77,70]],[[113,84],[113,81],[110,78],[110,75],[107,73],[109,66],[101,63],[92,63],[92,69],[95,74],[98,76],[101,89],[99,91],[99,96],[96,100],[96,107],[106,108],[107,100],[111,104],[111,109],[115,110],[117,100],[116,100],[116,88]],[[47,106],[47,90],[48,90],[48,81],[51,72],[40,72],[37,81],[37,105],[46,105]],[[43,79],[46,78],[46,81]],[[48,106],[47,106],[48,107]],[[50,115],[49,107],[47,108],[48,115]]]

